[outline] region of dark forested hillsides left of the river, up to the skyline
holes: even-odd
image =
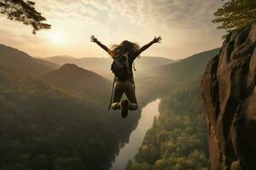
[[[124,120],[108,111],[111,82],[77,66],[56,70],[60,65],[0,49],[0,169],[108,169],[140,116]],[[49,77],[51,71],[58,74]],[[100,81],[104,92],[86,87],[87,80]],[[79,95],[76,84],[90,93]]]

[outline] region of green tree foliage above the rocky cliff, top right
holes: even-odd
[[[232,30],[247,26],[256,20],[255,0],[229,0],[214,14],[213,23],[222,23],[218,29]]]

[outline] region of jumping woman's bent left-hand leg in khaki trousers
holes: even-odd
[[[123,94],[124,94],[124,88],[122,88],[121,82],[116,81],[114,83],[113,101],[112,101],[112,105],[111,105],[111,108],[113,110],[121,109],[120,100],[121,100]]]

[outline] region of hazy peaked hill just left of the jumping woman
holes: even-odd
[[[55,87],[65,89],[86,99],[109,97],[112,83],[93,71],[84,70],[74,64],[65,64],[61,68],[44,75],[44,80]]]

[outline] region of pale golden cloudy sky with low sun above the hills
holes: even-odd
[[[0,15],[0,43],[36,57],[70,55],[108,57],[94,35],[108,47],[123,40],[140,46],[161,36],[142,56],[183,59],[221,46],[224,31],[212,24],[220,0],[34,0],[52,28],[32,28]]]

